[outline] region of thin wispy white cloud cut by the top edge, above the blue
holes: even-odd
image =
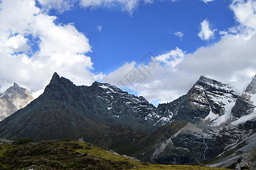
[[[124,11],[132,14],[140,2],[153,3],[152,0],[81,0],[80,5],[85,8],[112,7],[120,5]]]

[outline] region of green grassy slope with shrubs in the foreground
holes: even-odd
[[[82,156],[79,156],[83,153]],[[78,157],[79,156],[79,157]],[[40,141],[0,146],[0,169],[223,169],[142,163],[76,141]]]

